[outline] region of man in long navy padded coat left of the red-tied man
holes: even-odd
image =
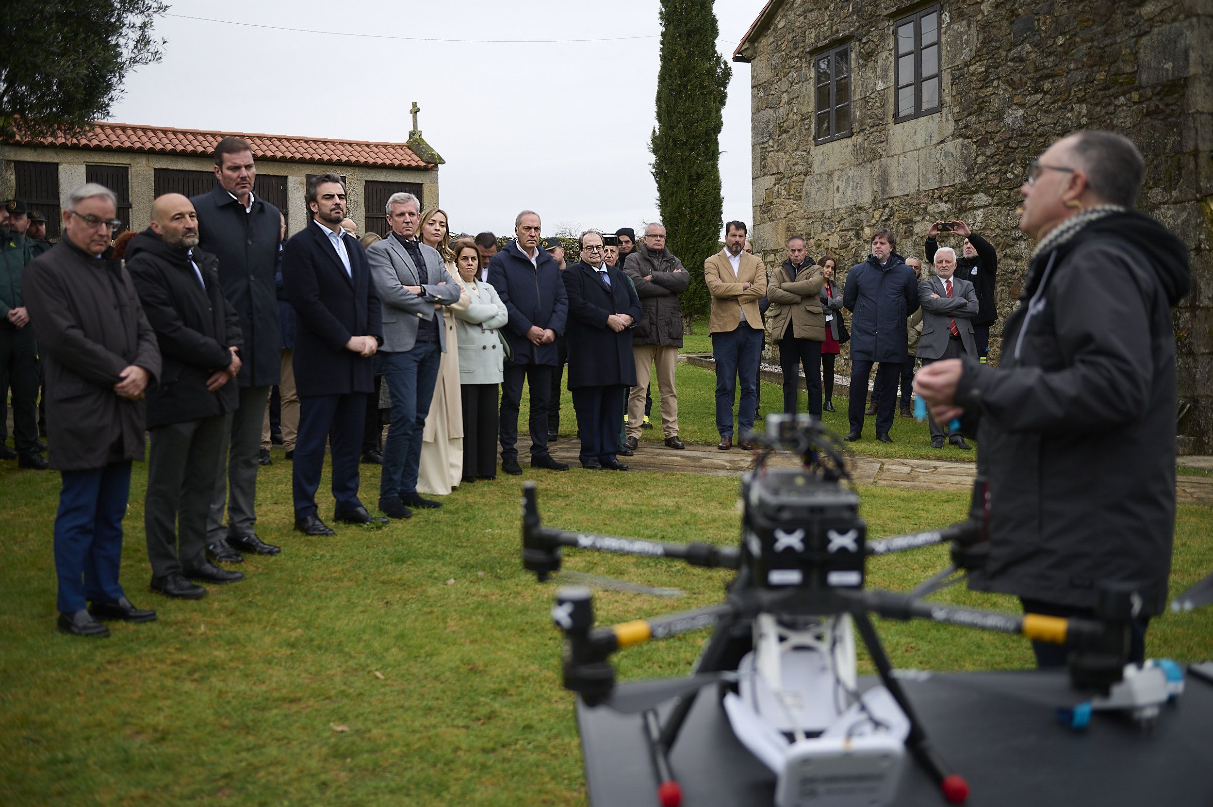
[[[918,311],[918,278],[893,250],[896,238],[887,229],[872,233],[872,254],[847,272],[843,307],[850,312],[850,431],[864,432],[864,402],[872,365],[879,365],[876,383],[876,439],[892,443],[889,428],[896,408],[898,379],[910,351],[906,318]]]

